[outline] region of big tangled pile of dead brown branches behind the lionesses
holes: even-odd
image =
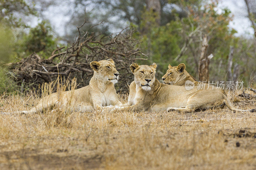
[[[137,48],[139,42],[132,39],[134,30],[128,27],[117,35],[103,36],[89,31],[80,33],[82,26],[77,27],[78,37],[72,45],[57,48],[49,58],[44,59],[33,53],[17,63],[8,65],[14,80],[22,87],[21,91],[26,87],[31,89],[31,86],[38,89],[40,84],[54,81],[58,76],[65,80],[75,77],[78,88],[84,87],[89,84],[93,75],[90,62],[108,58],[116,62],[120,73],[117,90],[128,90],[127,83],[130,84],[133,80],[130,64],[147,58]]]

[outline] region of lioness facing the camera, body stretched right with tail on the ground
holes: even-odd
[[[112,110],[160,111],[176,110],[194,112],[196,109],[207,109],[227,105],[232,111],[255,112],[255,109],[241,110],[235,108],[220,89],[190,89],[160,83],[155,78],[156,64],[150,66],[132,63],[130,69],[134,81],[130,85],[127,107],[112,107]]]

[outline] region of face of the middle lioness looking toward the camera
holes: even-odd
[[[132,63],[130,69],[134,74],[134,81],[137,85],[139,85],[143,90],[149,91],[151,90],[151,86],[155,82],[155,73],[156,73],[156,63],[152,65],[137,65],[136,63]]]

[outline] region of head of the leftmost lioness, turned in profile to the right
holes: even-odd
[[[117,83],[119,73],[116,70],[115,62],[111,58],[108,60],[92,61],[90,66],[99,80]]]

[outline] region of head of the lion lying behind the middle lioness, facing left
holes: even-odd
[[[180,77],[185,71],[185,64],[181,63],[179,66],[168,66],[167,72],[162,77],[164,84],[175,84],[180,80]]]

